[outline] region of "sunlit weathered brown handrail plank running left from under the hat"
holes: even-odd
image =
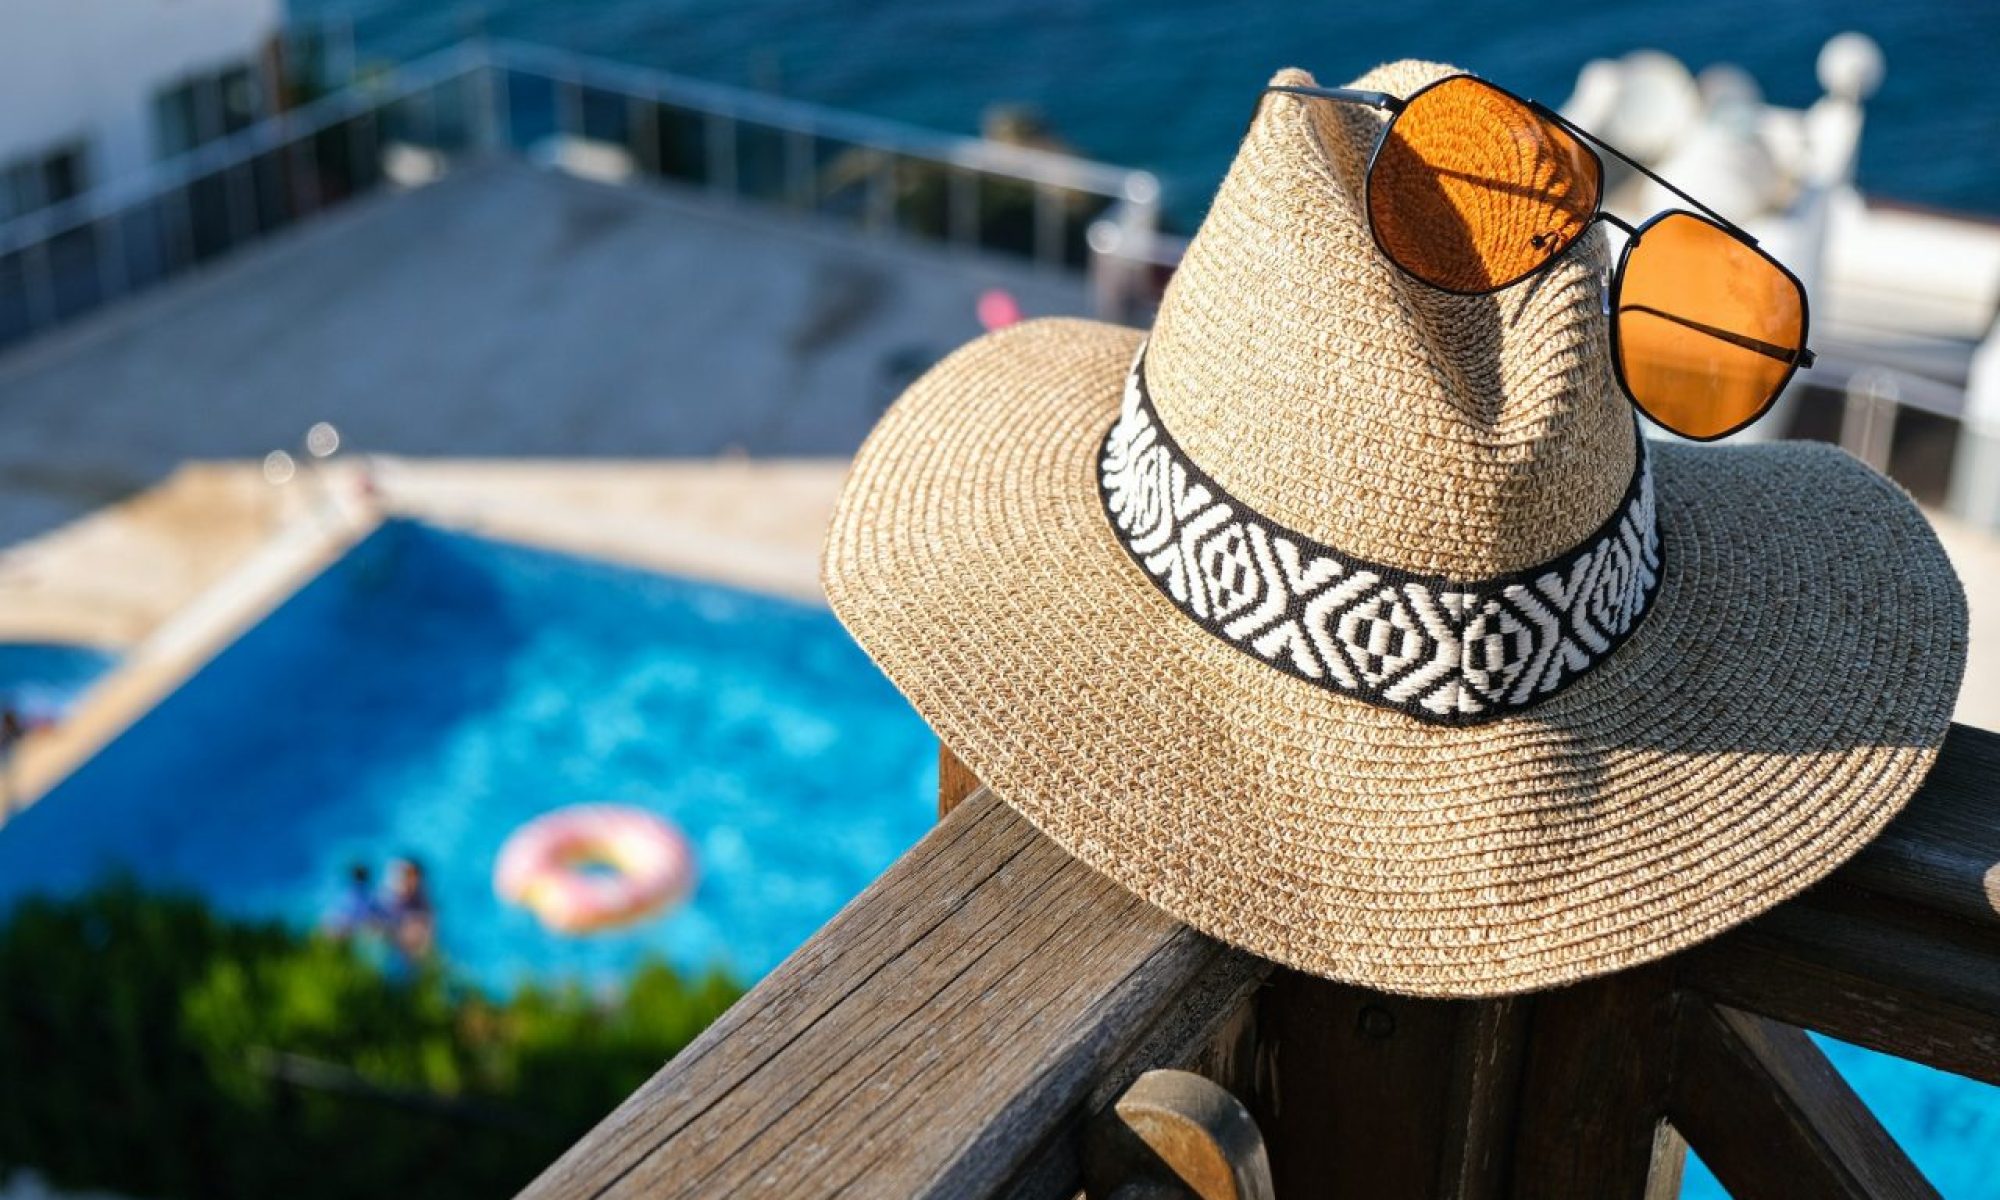
[[[524,1194],[1074,1192],[1092,1100],[1264,970],[978,792]]]

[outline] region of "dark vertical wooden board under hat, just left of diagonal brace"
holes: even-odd
[[[1684,1146],[1664,1120],[1670,982],[1658,968],[1638,968],[1536,996],[1514,1132],[1514,1196],[1680,1194]]]

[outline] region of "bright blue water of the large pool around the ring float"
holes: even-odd
[[[932,824],[936,742],[822,608],[390,524],[0,828],[0,906],[106,870],[314,924],[350,862],[416,854],[490,988],[644,954],[770,970]],[[492,892],[580,802],[694,846],[678,912],[566,938]]]

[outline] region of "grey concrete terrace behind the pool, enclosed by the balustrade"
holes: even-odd
[[[1078,276],[490,160],[382,194],[0,358],[0,546],[296,448],[846,456],[1008,288]]]

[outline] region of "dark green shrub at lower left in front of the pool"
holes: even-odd
[[[740,988],[392,982],[356,948],[112,884],[0,924],[0,1176],[134,1196],[506,1196]]]

